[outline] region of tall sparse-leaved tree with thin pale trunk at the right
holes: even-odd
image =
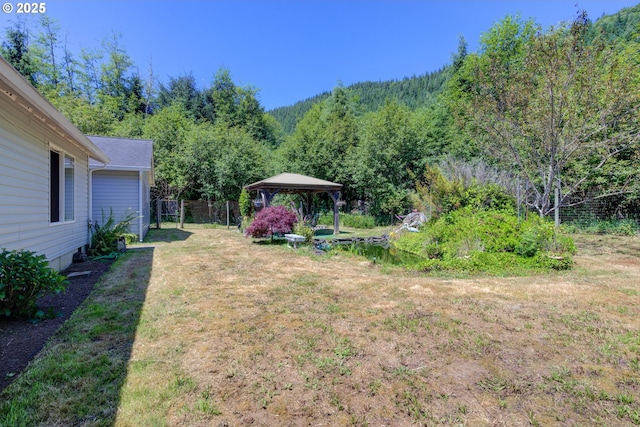
[[[580,13],[542,31],[508,16],[483,35],[445,97],[482,155],[523,179],[526,203],[540,215],[553,212],[558,182],[563,203],[589,190],[626,192],[638,177],[625,160],[640,144],[640,63],[594,38],[592,25]]]

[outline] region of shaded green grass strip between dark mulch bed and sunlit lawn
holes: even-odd
[[[0,399],[0,425],[96,425],[115,420],[151,271],[151,250],[116,261]]]

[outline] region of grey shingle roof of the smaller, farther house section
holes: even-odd
[[[105,169],[153,172],[153,141],[91,135],[87,138],[111,159]],[[105,165],[91,159],[89,166],[96,169]]]

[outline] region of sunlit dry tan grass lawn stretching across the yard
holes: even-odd
[[[152,231],[117,426],[640,423],[640,242],[429,277],[226,229]]]

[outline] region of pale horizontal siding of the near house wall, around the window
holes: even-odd
[[[88,157],[0,97],[0,248],[44,254],[63,269],[88,243]],[[49,223],[49,146],[75,158],[74,221]]]

